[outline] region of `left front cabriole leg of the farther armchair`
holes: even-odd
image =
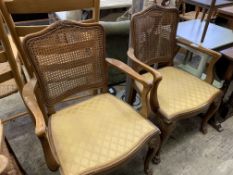
[[[160,152],[161,152],[162,146],[164,145],[164,143],[166,143],[166,141],[170,137],[170,135],[171,135],[172,131],[175,129],[175,127],[176,127],[176,122],[165,123],[164,121],[161,120],[161,122],[160,122],[161,144],[160,144],[160,147],[159,147],[157,153],[153,157],[154,164],[160,163]]]

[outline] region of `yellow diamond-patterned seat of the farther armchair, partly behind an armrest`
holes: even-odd
[[[163,79],[158,87],[159,111],[167,120],[175,120],[180,115],[207,107],[221,91],[197,77],[175,67],[158,70]],[[152,81],[150,73],[143,74]],[[135,82],[139,91],[141,84]]]

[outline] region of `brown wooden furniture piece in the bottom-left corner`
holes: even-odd
[[[0,120],[0,174],[23,175],[25,174],[19,166],[14,154],[11,153],[9,145],[4,140],[3,124]]]

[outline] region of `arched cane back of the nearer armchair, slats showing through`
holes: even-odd
[[[48,108],[80,91],[107,87],[104,30],[59,21],[26,36],[23,47]]]

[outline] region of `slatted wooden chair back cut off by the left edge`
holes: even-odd
[[[0,43],[0,98],[2,98],[17,91],[18,88],[21,92],[23,87],[20,68],[14,57],[2,16],[0,16]]]

